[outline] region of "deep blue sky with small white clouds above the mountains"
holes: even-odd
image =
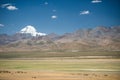
[[[47,34],[119,26],[120,0],[0,0],[0,34],[27,25]]]

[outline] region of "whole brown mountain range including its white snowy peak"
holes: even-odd
[[[0,51],[119,51],[120,26],[79,29],[57,35],[26,26],[13,35],[0,34]]]

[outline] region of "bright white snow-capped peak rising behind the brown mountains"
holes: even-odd
[[[31,36],[45,36],[45,33],[37,32],[34,26],[28,25],[20,30],[19,33],[30,34]]]

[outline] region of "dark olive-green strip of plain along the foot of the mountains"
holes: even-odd
[[[85,52],[69,52],[69,51],[25,51],[25,52],[0,52],[0,59],[15,59],[15,58],[120,58],[120,51],[85,51]],[[98,56],[98,57],[96,57]]]

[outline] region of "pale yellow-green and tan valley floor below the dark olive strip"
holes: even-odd
[[[3,59],[0,80],[120,80],[120,59]]]

